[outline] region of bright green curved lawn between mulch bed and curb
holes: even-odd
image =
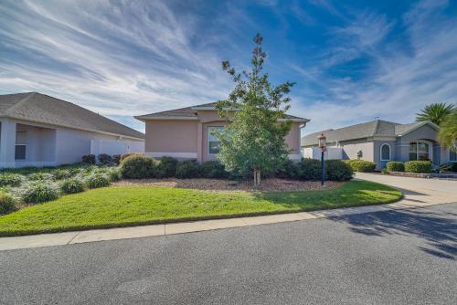
[[[387,185],[357,180],[333,190],[283,193],[103,187],[0,216],[0,236],[376,205],[399,198],[401,193]]]

